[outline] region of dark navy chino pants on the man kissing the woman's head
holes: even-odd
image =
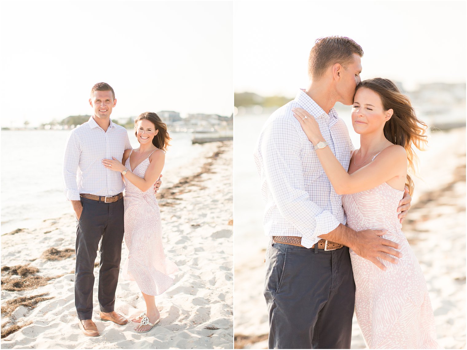
[[[271,241],[266,257],[269,349],[350,349],[355,283],[348,248]]]

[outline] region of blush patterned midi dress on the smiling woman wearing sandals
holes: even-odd
[[[149,157],[134,169],[130,168],[128,157],[125,166],[144,178]],[[172,285],[173,278],[169,275],[177,271],[177,265],[164,255],[161,214],[153,187],[142,192],[125,178],[124,205],[128,257],[123,266],[123,278],[136,281],[145,294],[159,295]]]

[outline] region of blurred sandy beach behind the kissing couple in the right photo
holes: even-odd
[[[430,148],[418,152],[421,179],[414,179],[415,194],[403,223],[425,274],[439,343],[446,349],[466,347],[465,139],[465,128],[437,131],[432,134]],[[235,226],[236,237],[240,229]],[[262,288],[268,240],[259,237],[262,232],[249,234],[254,238],[248,259],[237,258],[241,247],[235,240],[234,347],[267,349],[268,316]],[[365,349],[355,317],[351,347]]]

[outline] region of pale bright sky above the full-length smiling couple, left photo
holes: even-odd
[[[1,1],[2,126],[92,114],[100,81],[112,117],[233,113],[231,1]]]

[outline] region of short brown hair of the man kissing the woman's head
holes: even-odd
[[[363,56],[361,46],[346,36],[326,36],[316,39],[308,58],[308,75],[312,79],[323,77],[326,69],[339,63],[344,68],[354,62],[354,53]]]

